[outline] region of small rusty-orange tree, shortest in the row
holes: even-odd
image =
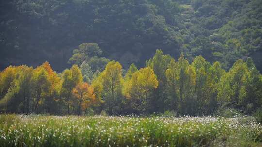
[[[79,83],[74,89],[73,94],[77,98],[77,115],[81,114],[81,109],[86,110],[95,102],[94,90],[87,83]]]

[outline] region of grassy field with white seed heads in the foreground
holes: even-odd
[[[0,115],[0,147],[262,147],[252,117]]]

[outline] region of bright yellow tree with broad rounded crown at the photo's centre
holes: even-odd
[[[133,73],[130,83],[126,86],[126,97],[139,99],[142,103],[138,103],[138,109],[147,113],[149,92],[158,86],[157,77],[154,71],[150,67],[136,71]]]

